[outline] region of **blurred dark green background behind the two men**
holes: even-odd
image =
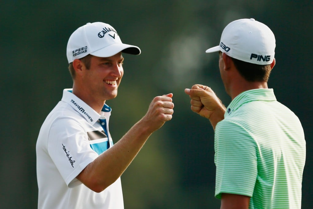
[[[276,37],[269,78],[278,101],[302,122],[307,159],[302,208],[312,207],[313,1],[1,1],[0,208],[36,208],[35,144],[41,124],[72,87],[66,44],[87,22],[111,24],[141,55],[124,55],[124,77],[110,132],[116,142],[147,111],[152,98],[172,92],[171,121],[148,139],[121,176],[126,209],[218,208],[214,198],[214,133],[190,110],[185,88],[210,86],[227,106],[218,70],[223,28],[239,18],[267,24]]]

